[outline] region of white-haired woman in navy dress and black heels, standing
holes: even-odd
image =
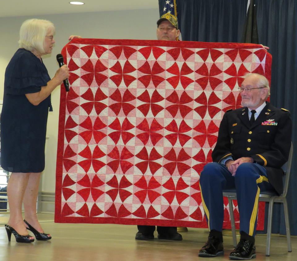
[[[49,240],[36,215],[36,201],[41,172],[45,167],[45,134],[48,112],[52,111],[50,94],[69,76],[63,65],[51,79],[41,56],[52,52],[54,24],[30,19],[20,28],[19,49],[5,71],[1,113],[1,167],[12,172],[7,185],[10,218],[5,225],[17,242]],[[24,217],[22,218],[22,202]]]

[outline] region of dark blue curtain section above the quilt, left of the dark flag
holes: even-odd
[[[160,15],[164,2],[159,0]],[[247,4],[248,0],[176,0],[183,40],[239,42]]]

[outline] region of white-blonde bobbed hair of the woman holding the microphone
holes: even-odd
[[[28,51],[44,53],[45,36],[55,32],[54,24],[48,20],[29,19],[24,21],[19,30],[19,47]]]

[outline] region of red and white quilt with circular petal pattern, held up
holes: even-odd
[[[240,107],[242,76],[270,79],[271,55],[252,44],[105,39],[75,39],[62,54],[71,88],[61,88],[55,222],[207,227],[199,173],[224,112]],[[263,205],[258,220],[261,229]]]

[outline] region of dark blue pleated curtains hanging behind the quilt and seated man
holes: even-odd
[[[259,43],[272,54],[270,102],[286,108],[293,120],[295,148],[287,195],[291,235],[297,235],[297,0],[254,0]],[[248,0],[176,0],[184,41],[240,42]],[[164,0],[159,0],[160,14]],[[283,208],[274,207],[272,233],[286,234]],[[267,211],[266,211],[267,212]]]

